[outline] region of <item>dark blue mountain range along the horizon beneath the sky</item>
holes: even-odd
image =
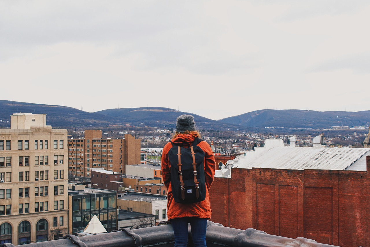
[[[85,112],[68,106],[0,100],[0,126],[10,127],[13,113],[46,113],[47,125],[53,128],[104,128],[109,125],[150,126],[175,129],[176,118],[181,114],[194,116],[199,129],[261,130],[265,128],[328,129],[332,126],[369,127],[370,111],[306,111],[306,110],[258,110],[212,120],[192,113],[162,107],[106,109]]]

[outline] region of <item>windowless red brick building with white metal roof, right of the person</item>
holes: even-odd
[[[336,246],[369,246],[369,148],[262,149],[234,159],[227,167],[231,175],[216,172],[211,221]]]

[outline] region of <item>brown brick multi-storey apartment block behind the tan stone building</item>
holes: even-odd
[[[141,163],[140,139],[103,139],[98,129],[85,130],[84,139],[68,139],[68,172],[91,177],[91,168],[104,168],[124,174],[125,165]]]

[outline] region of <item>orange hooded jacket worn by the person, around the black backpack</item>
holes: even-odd
[[[184,135],[180,134],[175,139],[172,139],[172,142],[176,143],[192,143],[194,142],[195,138],[192,135]],[[211,146],[205,141],[202,141],[198,144],[205,152],[204,158],[204,171],[205,171],[205,182],[206,182],[206,199],[201,202],[194,202],[189,204],[182,204],[175,202],[174,198],[172,197],[172,188],[171,188],[171,163],[168,159],[168,151],[172,148],[171,142],[167,143],[162,152],[162,179],[163,181],[170,181],[165,184],[167,188],[167,217],[168,220],[174,218],[181,218],[181,217],[197,217],[197,218],[211,218],[211,204],[209,201],[209,193],[208,190],[211,187],[213,182],[213,177],[215,176],[215,169],[216,169],[216,162],[215,157],[213,156],[213,152]]]

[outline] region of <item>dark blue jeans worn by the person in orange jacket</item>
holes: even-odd
[[[190,223],[194,247],[206,247],[207,219],[183,217],[171,220],[174,228],[175,247],[188,246],[188,223]]]

